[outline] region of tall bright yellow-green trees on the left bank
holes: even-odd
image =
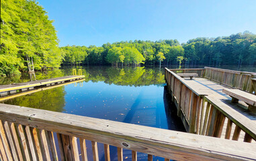
[[[36,1],[1,0],[0,23],[0,75],[60,66],[56,30]]]

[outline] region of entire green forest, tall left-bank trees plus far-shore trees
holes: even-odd
[[[0,75],[60,66],[141,64],[256,64],[256,35],[218,38],[130,40],[102,46],[58,46],[56,29],[36,1],[1,0]]]

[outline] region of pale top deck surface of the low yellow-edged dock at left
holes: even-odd
[[[32,87],[40,87],[42,85],[48,85],[51,83],[61,83],[63,81],[67,80],[75,80],[75,79],[81,79],[85,76],[62,76],[58,78],[49,78],[44,80],[36,80],[31,81],[27,83],[15,83],[11,85],[0,85],[0,93],[9,92],[9,91],[15,91],[19,89],[26,89],[26,88],[32,88]]]

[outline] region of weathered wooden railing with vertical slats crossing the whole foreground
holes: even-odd
[[[256,159],[256,144],[41,109],[0,104],[0,119],[1,160],[87,160],[85,140],[91,141],[93,160],[99,160],[98,143],[104,144],[105,160],[110,145],[116,146],[118,160],[124,160],[123,148],[132,151],[132,160],[137,152],[148,154],[148,160]]]

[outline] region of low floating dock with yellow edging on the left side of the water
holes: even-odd
[[[58,78],[49,78],[44,80],[36,80],[30,81],[27,83],[15,83],[11,85],[0,85],[0,97],[11,95],[13,93],[19,93],[22,91],[30,91],[31,89],[36,89],[40,87],[50,86],[50,85],[58,85],[60,83],[67,83],[74,80],[80,80],[85,76],[62,76]]]

